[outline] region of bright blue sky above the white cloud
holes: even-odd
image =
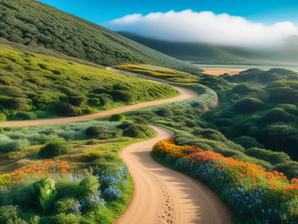
[[[253,22],[298,23],[298,0],[39,0],[60,10],[101,24],[128,14],[191,9],[242,16]]]

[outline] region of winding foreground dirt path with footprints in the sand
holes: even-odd
[[[134,180],[134,199],[117,224],[229,224],[226,206],[202,183],[160,165],[150,156],[154,143],[172,137],[150,125],[157,136],[119,151]]]

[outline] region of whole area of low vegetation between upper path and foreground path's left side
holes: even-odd
[[[113,223],[133,193],[117,152],[153,136],[132,120],[3,128],[0,222]]]

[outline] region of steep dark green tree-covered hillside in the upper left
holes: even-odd
[[[33,48],[42,46],[104,66],[143,63],[191,73],[201,71],[97,24],[34,0],[0,0],[0,37]]]

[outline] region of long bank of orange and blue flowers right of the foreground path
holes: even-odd
[[[214,189],[241,223],[298,222],[298,179],[288,181],[282,173],[249,162],[177,146],[173,139],[157,142],[153,153]]]

